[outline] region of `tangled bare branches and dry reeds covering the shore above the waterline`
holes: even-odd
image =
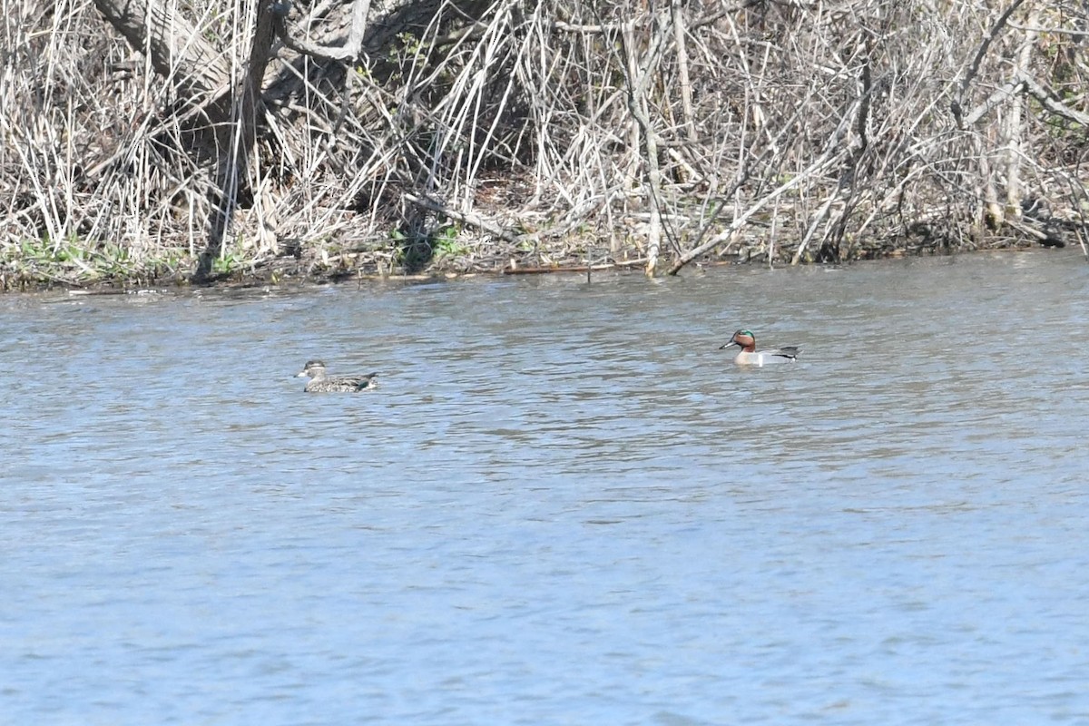
[[[1089,2],[2,5],[5,286],[1085,239]]]

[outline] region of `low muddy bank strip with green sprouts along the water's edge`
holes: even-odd
[[[1016,232],[1016,231],[1014,231]],[[840,263],[857,260],[927,255],[970,254],[976,250],[1024,250],[1085,245],[1075,225],[1054,226],[1041,234],[994,235],[980,243],[952,243],[923,230],[905,235],[895,244],[859,245],[845,259],[822,260],[809,256],[804,264]],[[725,245],[714,255],[692,262],[692,267],[791,264],[797,241],[771,245],[750,238]],[[56,257],[9,256],[0,261],[0,291],[30,292],[51,288],[84,291],[88,294],[120,294],[147,287],[252,287],[307,283],[365,283],[375,280],[435,280],[477,275],[595,274],[601,272],[647,273],[647,257],[640,245],[620,249],[583,243],[555,245],[495,245],[488,241],[460,243],[451,250],[443,245],[418,242],[412,246],[338,248],[334,245],[305,250],[286,244],[284,254],[217,263],[210,274],[198,275],[197,259],[179,254],[171,262],[123,263],[106,255]],[[653,273],[668,274],[670,259],[660,258]]]

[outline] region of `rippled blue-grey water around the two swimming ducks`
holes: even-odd
[[[0,723],[1089,724],[1087,290],[0,297]]]

